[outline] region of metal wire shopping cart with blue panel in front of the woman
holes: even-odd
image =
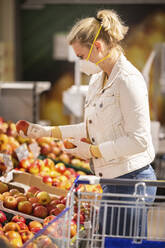
[[[98,183],[116,187],[130,185],[134,193],[99,194],[77,190],[79,184]],[[165,248],[165,196],[153,199],[146,193],[146,187],[150,186],[165,187],[165,181],[80,176],[68,195],[68,221],[71,223],[73,219],[76,204],[77,234],[74,242],[68,235],[67,247]],[[82,215],[85,216],[83,225]]]

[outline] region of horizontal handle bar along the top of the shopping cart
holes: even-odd
[[[165,180],[136,180],[136,179],[109,179],[96,176],[79,176],[76,184],[109,184],[135,186],[137,183],[144,182],[147,186],[165,188]]]

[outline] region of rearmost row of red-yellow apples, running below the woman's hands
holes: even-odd
[[[20,123],[21,124],[21,123]],[[21,124],[22,125],[22,124]],[[17,125],[18,126],[18,125]],[[17,127],[19,130],[19,126]],[[24,127],[24,132],[27,132],[27,126]],[[18,166],[18,158],[15,153],[15,150],[22,144],[26,143],[29,146],[31,143],[37,142],[41,148],[41,155],[48,156],[56,161],[62,161],[66,164],[73,164],[77,167],[82,167],[89,170],[89,163],[88,161],[81,160],[70,154],[63,152],[63,141],[59,141],[57,139],[51,137],[42,137],[37,140],[30,139],[30,138],[23,138],[17,134],[16,125],[15,123],[8,121],[5,122],[2,117],[0,117],[0,153],[10,154],[12,155],[12,160],[14,163],[14,167]],[[29,147],[28,147],[29,148]],[[28,160],[32,159],[32,153],[29,149],[29,158]],[[29,161],[28,161],[29,162]],[[27,162],[27,163],[28,163]],[[24,161],[24,163],[26,163]],[[22,169],[21,169],[22,170]],[[0,172],[3,175],[6,171],[5,164],[0,161]]]

